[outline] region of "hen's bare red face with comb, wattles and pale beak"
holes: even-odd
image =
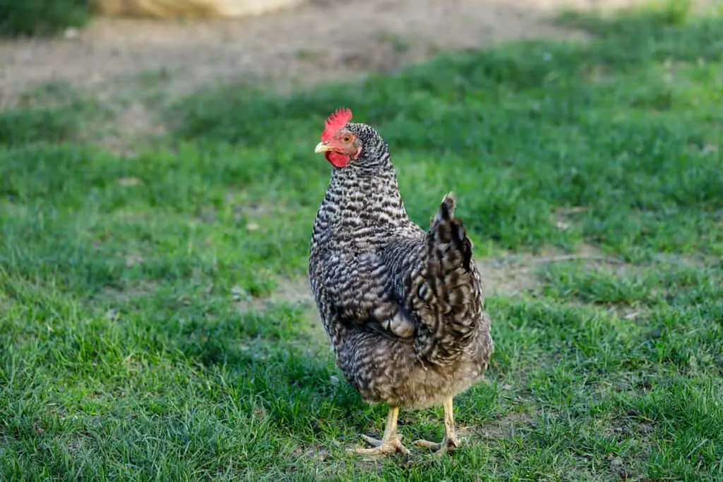
[[[353,132],[351,126],[351,110],[338,108],[328,119],[321,134],[321,142],[315,152],[324,152],[324,157],[335,168],[345,168],[351,160],[361,154],[361,139]]]

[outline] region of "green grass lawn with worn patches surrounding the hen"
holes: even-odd
[[[723,20],[564,21],[596,39],[200,92],[129,158],[84,137],[93,105],[0,113],[0,478],[721,480]],[[489,297],[497,352],[444,460],[347,455],[385,408],[276,294],[304,275],[341,105],[390,142],[415,220],[458,194],[479,258],[617,259]],[[440,416],[401,432],[440,439]]]

